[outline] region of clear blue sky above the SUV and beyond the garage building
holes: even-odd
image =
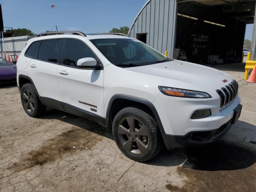
[[[146,0],[0,0],[5,27],[45,31],[78,30],[108,32],[130,27]],[[52,10],[51,4],[55,5]],[[246,26],[245,39],[252,39],[253,25]]]

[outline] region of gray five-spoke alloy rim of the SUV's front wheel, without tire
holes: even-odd
[[[123,118],[118,124],[118,134],[122,145],[129,152],[143,154],[148,149],[148,128],[137,118]]]

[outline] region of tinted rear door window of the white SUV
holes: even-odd
[[[38,59],[57,63],[59,62],[61,40],[42,41],[38,50]]]

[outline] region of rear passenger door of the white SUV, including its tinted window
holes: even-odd
[[[58,99],[56,71],[60,62],[62,39],[42,40],[28,64],[27,74],[43,99]]]

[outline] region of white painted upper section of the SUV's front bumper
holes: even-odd
[[[234,108],[240,104],[236,98],[220,110],[220,98],[190,99],[159,94],[153,104],[160,117],[165,134],[185,136],[194,131],[216,130],[226,124],[234,115]],[[211,115],[202,119],[191,119],[196,110],[210,109]]]

